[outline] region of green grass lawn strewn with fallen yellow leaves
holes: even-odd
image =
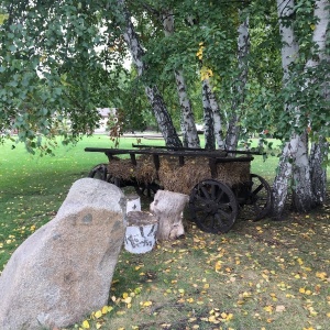
[[[122,139],[120,147],[132,142]],[[107,163],[86,146],[111,143],[86,138],[58,147],[55,157],[0,145],[0,271],[23,240],[54,218],[72,184]],[[276,165],[275,157],[256,156],[252,172],[271,182]],[[240,217],[224,235],[187,222],[183,240],[142,255],[122,250],[108,306],[69,329],[329,329],[329,219],[327,204],[280,222]]]

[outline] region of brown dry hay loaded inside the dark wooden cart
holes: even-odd
[[[201,180],[211,179],[209,158],[185,157],[185,165],[179,166],[176,156],[160,156],[158,175],[150,155],[143,155],[134,166],[131,160],[111,161],[109,172],[123,180],[136,180],[138,184],[158,183],[164,189],[189,195]],[[250,182],[250,162],[230,162],[217,164],[215,179],[230,187]]]

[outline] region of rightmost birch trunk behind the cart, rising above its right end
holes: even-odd
[[[237,150],[239,136],[240,136],[240,127],[239,121],[241,118],[240,106],[244,102],[244,89],[248,81],[248,63],[246,58],[250,51],[250,33],[249,33],[249,19],[246,18],[238,29],[238,62],[239,62],[239,72],[240,77],[237,81],[234,88],[234,99],[232,101],[232,114],[229,121],[229,127],[226,135],[226,148]]]

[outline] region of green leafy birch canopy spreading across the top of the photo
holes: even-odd
[[[89,134],[97,127],[98,107],[122,108],[131,129],[146,127],[151,106],[141,84],[157,84],[176,128],[179,108],[174,69],[183,69],[197,121],[202,120],[202,73],[211,81],[221,108],[224,131],[240,84],[238,28],[249,18],[251,47],[244,59],[249,81],[240,105],[241,132],[266,130],[289,139],[293,129],[329,136],[329,57],[307,67],[316,56],[312,40],[315,1],[295,1],[293,24],[299,44],[292,75],[282,88],[280,36],[274,1],[127,1],[134,29],[145,51],[142,76],[122,64],[130,50],[123,38],[124,15],[114,0],[2,1],[0,7],[0,130],[15,129],[28,146],[42,136],[65,141]],[[162,13],[170,9],[175,33],[164,35]],[[329,29],[328,29],[329,35]],[[328,44],[329,45],[329,37]],[[202,50],[202,57],[200,57]],[[329,46],[326,50],[329,56]],[[199,54],[199,56],[198,56]],[[290,100],[300,109],[299,125],[283,111]],[[143,124],[134,118],[143,113]],[[67,121],[70,130],[67,130]]]

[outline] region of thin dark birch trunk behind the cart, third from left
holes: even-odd
[[[208,85],[206,80],[202,80],[202,109],[204,109],[204,135],[205,135],[205,148],[215,150],[215,125],[213,125],[213,113],[208,97]]]

